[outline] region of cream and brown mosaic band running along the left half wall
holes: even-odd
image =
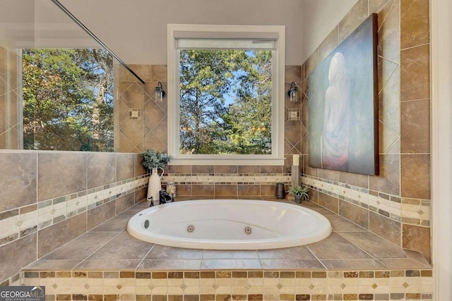
[[[35,233],[148,185],[148,176],[138,176],[71,195],[0,213],[0,246]]]

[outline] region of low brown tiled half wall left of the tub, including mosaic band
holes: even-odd
[[[0,152],[0,281],[145,199],[136,154]]]

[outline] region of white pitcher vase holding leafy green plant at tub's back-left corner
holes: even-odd
[[[146,149],[140,154],[143,158],[141,165],[148,169],[150,172],[149,185],[148,185],[148,200],[153,197],[154,202],[159,199],[159,192],[162,190],[162,178],[165,170],[163,167],[171,161],[172,156],[163,152],[155,152],[153,149]],[[159,176],[158,169],[162,169],[162,174]]]

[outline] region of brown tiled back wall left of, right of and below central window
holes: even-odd
[[[167,90],[167,66],[130,67],[145,81],[145,85],[141,85],[131,74],[119,70],[119,102],[116,103],[115,113],[121,118],[119,123],[115,123],[119,125],[115,130],[115,150],[143,152],[145,149],[154,149],[167,152],[167,98],[163,102],[153,99],[157,82],[162,82]],[[301,90],[301,78],[301,66],[286,66],[286,92],[291,82],[295,82]],[[299,98],[298,102],[290,102],[285,97],[285,166],[169,166],[162,178],[163,182],[174,180],[177,183],[177,195],[180,196],[274,195],[275,183],[290,184],[291,154],[301,154]],[[131,116],[132,110],[138,112],[138,118]],[[290,111],[297,117],[289,118],[292,116]]]

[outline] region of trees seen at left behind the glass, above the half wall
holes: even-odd
[[[23,49],[23,147],[113,151],[113,59],[104,49]]]

